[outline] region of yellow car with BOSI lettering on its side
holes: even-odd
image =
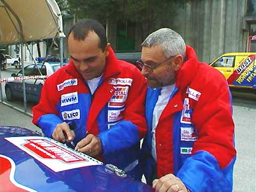
[[[220,70],[230,87],[256,90],[256,52],[229,52],[210,66]]]

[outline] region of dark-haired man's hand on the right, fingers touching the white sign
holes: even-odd
[[[86,138],[79,141],[75,150],[83,152],[91,157],[96,157],[103,152],[100,139],[93,134],[88,134]]]

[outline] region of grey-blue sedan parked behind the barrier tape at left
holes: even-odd
[[[16,74],[12,74],[12,77],[20,76],[51,76],[56,70],[60,68],[60,63],[37,63],[27,65],[24,67],[24,74],[22,70],[19,70]],[[40,69],[40,72],[39,70]],[[42,85],[44,84],[44,79],[28,79],[25,80],[26,86],[26,98],[30,102],[37,103],[40,99],[40,93]],[[13,101],[15,99],[23,99],[23,84],[22,81],[7,82],[4,86],[6,99]]]

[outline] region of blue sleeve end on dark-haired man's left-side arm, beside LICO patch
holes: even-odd
[[[38,125],[44,132],[45,136],[52,138],[52,132],[57,124],[61,124],[63,121],[54,114],[42,115],[38,119]]]

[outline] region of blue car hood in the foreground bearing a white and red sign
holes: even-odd
[[[0,126],[1,191],[154,191],[112,164],[22,127]]]

